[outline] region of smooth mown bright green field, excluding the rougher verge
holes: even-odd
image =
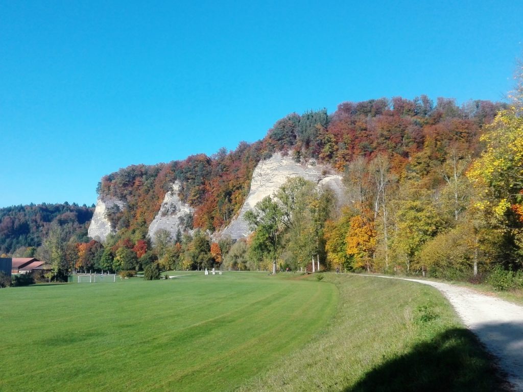
[[[334,285],[265,274],[0,291],[0,390],[229,390],[322,330]]]

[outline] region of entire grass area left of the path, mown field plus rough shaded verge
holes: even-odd
[[[432,287],[315,278],[242,272],[0,290],[0,390],[501,390]]]

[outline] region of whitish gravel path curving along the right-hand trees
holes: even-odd
[[[523,306],[446,283],[403,280],[428,284],[443,293],[464,324],[497,356],[514,389],[523,392]]]

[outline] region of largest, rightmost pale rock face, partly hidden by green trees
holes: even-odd
[[[251,190],[242,205],[238,216],[217,237],[230,236],[233,239],[247,237],[251,230],[244,218],[247,211],[252,210],[256,203],[266,196],[272,196],[287,181],[288,177],[303,177],[305,180],[313,181],[318,186],[331,188],[338,202],[343,201],[344,187],[342,177],[333,174],[334,170],[329,166],[315,165],[314,161],[307,165],[294,162],[288,156],[280,153],[271,158],[261,161],[254,169],[251,180]]]

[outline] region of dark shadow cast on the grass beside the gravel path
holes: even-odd
[[[467,329],[450,329],[371,370],[346,392],[508,391],[493,356]]]

